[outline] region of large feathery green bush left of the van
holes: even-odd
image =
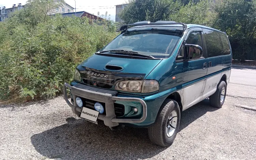
[[[62,94],[62,85],[72,80],[75,66],[116,36],[108,21],[98,25],[88,18],[60,15],[34,21],[23,15],[30,14],[29,9],[0,23],[1,100]]]

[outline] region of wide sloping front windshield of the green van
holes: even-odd
[[[154,58],[168,58],[179,43],[182,34],[181,27],[132,28],[117,36],[101,52],[125,50],[151,55]]]

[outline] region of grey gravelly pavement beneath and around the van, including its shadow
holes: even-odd
[[[256,70],[232,69],[223,108],[209,100],[184,111],[172,146],[152,145],[144,128],[111,131],[77,118],[62,97],[0,105],[0,159],[256,159]]]

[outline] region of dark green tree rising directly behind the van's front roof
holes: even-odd
[[[174,14],[180,7],[180,3],[171,0],[129,0],[129,4],[119,13],[126,24],[148,20],[169,20],[170,14]]]

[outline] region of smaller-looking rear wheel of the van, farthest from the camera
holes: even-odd
[[[216,92],[209,97],[210,105],[216,108],[221,108],[226,98],[226,92],[226,82],[221,81],[217,87]]]

